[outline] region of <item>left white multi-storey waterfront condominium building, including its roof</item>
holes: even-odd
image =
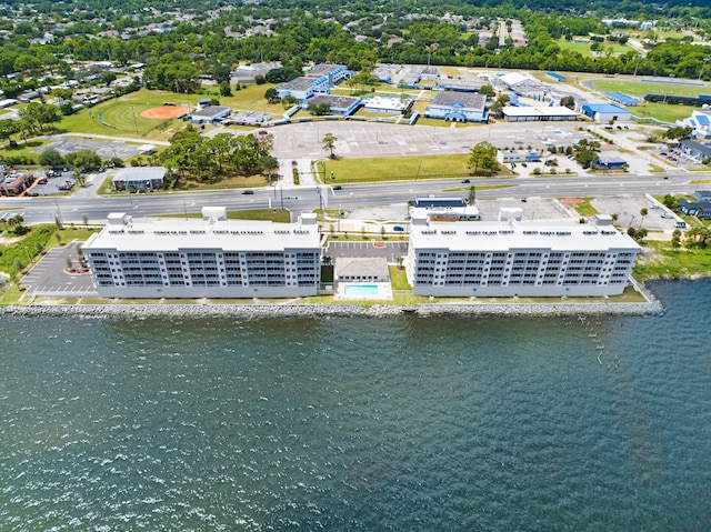
[[[299,223],[136,219],[109,223],[82,250],[99,295],[107,298],[296,298],[320,282],[316,214]]]

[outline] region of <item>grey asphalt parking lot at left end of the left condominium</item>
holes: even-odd
[[[72,242],[63,248],[53,248],[29,271],[20,284],[27,287],[31,295],[52,295],[57,298],[80,298],[97,295],[93,281],[89,273],[67,272],[67,259],[78,265],[77,247]]]

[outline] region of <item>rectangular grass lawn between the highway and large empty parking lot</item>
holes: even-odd
[[[469,154],[372,158],[372,159],[327,159],[326,173],[332,171],[333,183],[361,181],[397,181],[411,179],[468,177]]]

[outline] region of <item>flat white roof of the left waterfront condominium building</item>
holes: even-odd
[[[118,251],[283,251],[319,249],[317,224],[272,223],[250,220],[149,219],[132,220],[112,213],[114,223],[93,234],[82,249]],[[126,223],[116,223],[121,219]]]

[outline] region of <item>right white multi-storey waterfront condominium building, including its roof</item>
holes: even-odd
[[[405,262],[412,291],[435,297],[613,295],[640,247],[610,220],[429,222],[413,218]]]

